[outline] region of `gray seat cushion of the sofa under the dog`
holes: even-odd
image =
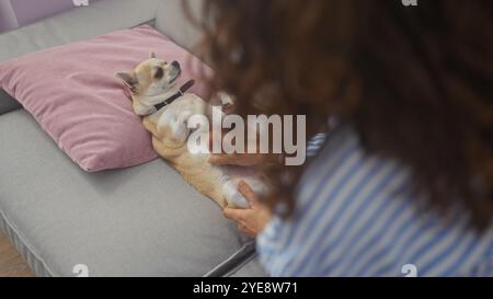
[[[220,209],[162,160],[84,173],[24,111],[0,117],[0,211],[41,275],[85,264],[91,276],[202,276],[241,248]]]

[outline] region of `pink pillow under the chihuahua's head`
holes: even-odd
[[[16,99],[83,170],[133,166],[158,156],[114,73],[135,68],[151,51],[180,61],[182,83],[199,67],[210,71],[145,25],[3,62],[0,88]],[[197,83],[191,92],[204,96],[205,88]]]

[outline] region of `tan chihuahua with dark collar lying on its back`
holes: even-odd
[[[187,148],[191,129],[187,123],[193,115],[208,115],[213,106],[192,93],[181,93],[176,81],[181,76],[180,64],[159,59],[151,55],[133,71],[117,72],[131,91],[136,114],[144,116],[146,129],[152,134],[156,151],[167,159],[197,191],[214,199],[219,206],[248,207],[237,185],[244,180],[254,192],[264,193],[265,184],[253,170],[237,166],[217,166],[208,162],[209,153],[191,153]],[[156,107],[170,97],[174,102]],[[222,104],[232,104],[222,96]],[[202,128],[208,134],[208,128]]]

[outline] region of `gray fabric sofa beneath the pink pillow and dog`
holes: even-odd
[[[142,23],[187,48],[199,36],[180,0],[103,0],[0,35],[0,61]],[[90,276],[265,276],[254,244],[162,160],[85,173],[3,92],[0,228],[37,276],[79,264]]]

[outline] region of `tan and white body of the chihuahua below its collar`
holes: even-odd
[[[208,153],[191,153],[187,145],[177,148],[173,142],[186,131],[185,114],[203,114],[205,102],[195,95],[186,95],[175,101],[162,114],[147,117],[144,125],[153,135],[153,147],[161,157],[169,160],[182,176],[198,192],[215,200],[219,206],[249,207],[246,199],[238,191],[238,183],[245,181],[255,193],[264,194],[265,186],[256,171],[242,166],[218,166],[208,162]],[[177,129],[182,128],[182,129]],[[208,127],[207,127],[208,130]],[[186,138],[188,138],[187,136]],[[168,145],[169,147],[164,146]]]

